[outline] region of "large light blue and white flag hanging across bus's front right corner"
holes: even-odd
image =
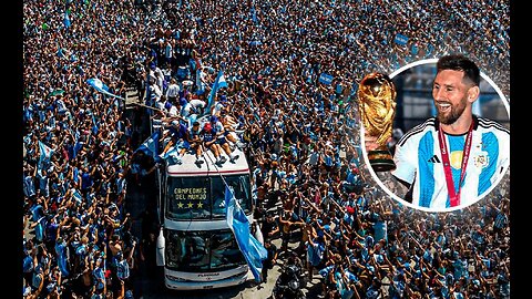
[[[241,205],[238,205],[233,192],[227,184],[225,185],[225,216],[227,225],[233,235],[241,252],[246,258],[247,265],[252,270],[257,282],[260,282],[260,269],[263,260],[266,259],[268,252],[266,248],[250,234],[249,220],[247,219]]]

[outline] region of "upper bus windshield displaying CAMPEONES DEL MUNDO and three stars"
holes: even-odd
[[[252,209],[249,175],[224,176],[242,209]],[[225,218],[225,184],[219,176],[168,177],[167,213],[171,219]]]

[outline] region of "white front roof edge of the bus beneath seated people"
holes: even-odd
[[[205,161],[202,164],[196,164],[196,155],[186,153],[183,156],[183,163],[171,165],[167,167],[168,176],[214,176],[218,174],[223,175],[233,175],[233,174],[249,174],[249,166],[247,165],[246,157],[244,152],[235,147],[233,151],[234,154],[238,155],[238,158],[232,163],[229,162],[228,156],[224,153],[223,155],[227,161],[217,166],[214,164],[215,158],[211,151],[204,153],[203,159]]]

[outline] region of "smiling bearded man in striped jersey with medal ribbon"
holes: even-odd
[[[477,202],[510,163],[510,131],[472,113],[480,71],[461,54],[437,63],[432,97],[437,116],[397,143],[391,174],[409,187],[405,199],[432,210]]]

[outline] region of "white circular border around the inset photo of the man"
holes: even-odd
[[[403,72],[405,70],[408,70],[410,68],[413,68],[413,66],[417,66],[417,65],[420,65],[420,64],[429,64],[429,63],[437,63],[438,62],[438,59],[423,59],[423,60],[419,60],[419,61],[416,61],[416,62],[412,62],[412,63],[409,63],[402,68],[400,68],[399,70],[392,72],[389,78],[390,79],[393,79],[396,75],[400,74],[401,72]],[[484,73],[480,72],[480,75],[482,76],[482,79],[484,79],[488,83],[490,83],[490,85],[495,90],[495,92],[499,94],[499,96],[501,97],[502,100],[502,103],[504,104],[504,107],[507,109],[507,113],[508,113],[508,120],[510,120],[510,104],[508,103],[508,100],[507,97],[504,96],[504,94],[502,93],[501,89],[499,89],[499,86],[488,76],[485,75]],[[504,169],[502,171],[502,175],[499,176],[499,178],[497,179],[495,184],[492,184],[484,193],[482,193],[478,198],[477,200],[470,203],[470,204],[467,204],[467,205],[460,205],[460,206],[457,206],[457,207],[450,207],[450,208],[444,208],[444,209],[434,209],[434,208],[427,208],[427,207],[420,207],[418,205],[413,205],[411,203],[408,203],[407,200],[400,198],[399,196],[397,196],[395,193],[390,192],[390,189],[388,189],[388,187],[386,187],[386,185],[380,181],[380,178],[377,176],[377,174],[375,173],[374,168],[371,167],[371,165],[369,164],[369,158],[368,158],[368,154],[366,152],[366,140],[364,138],[364,135],[365,135],[365,127],[364,125],[360,125],[360,147],[362,148],[362,156],[364,156],[364,162],[366,163],[367,165],[367,168],[369,171],[369,173],[371,174],[371,176],[374,177],[374,179],[377,182],[377,184],[380,186],[380,188],[382,188],[382,190],[385,190],[390,197],[392,197],[393,199],[396,199],[397,202],[399,202],[400,204],[402,205],[406,205],[408,207],[411,207],[411,208],[415,208],[415,209],[419,209],[419,210],[424,210],[424,212],[431,212],[431,213],[446,213],[446,212],[452,212],[452,210],[457,210],[457,209],[462,209],[464,207],[468,207],[470,205],[473,205],[473,204],[477,204],[480,199],[484,198],[488,194],[490,194],[498,185],[499,183],[501,182],[501,179],[507,175],[507,171],[508,171],[508,167],[510,167],[510,163],[508,163],[508,165],[504,167]],[[397,182],[398,184],[400,184],[399,182]]]

